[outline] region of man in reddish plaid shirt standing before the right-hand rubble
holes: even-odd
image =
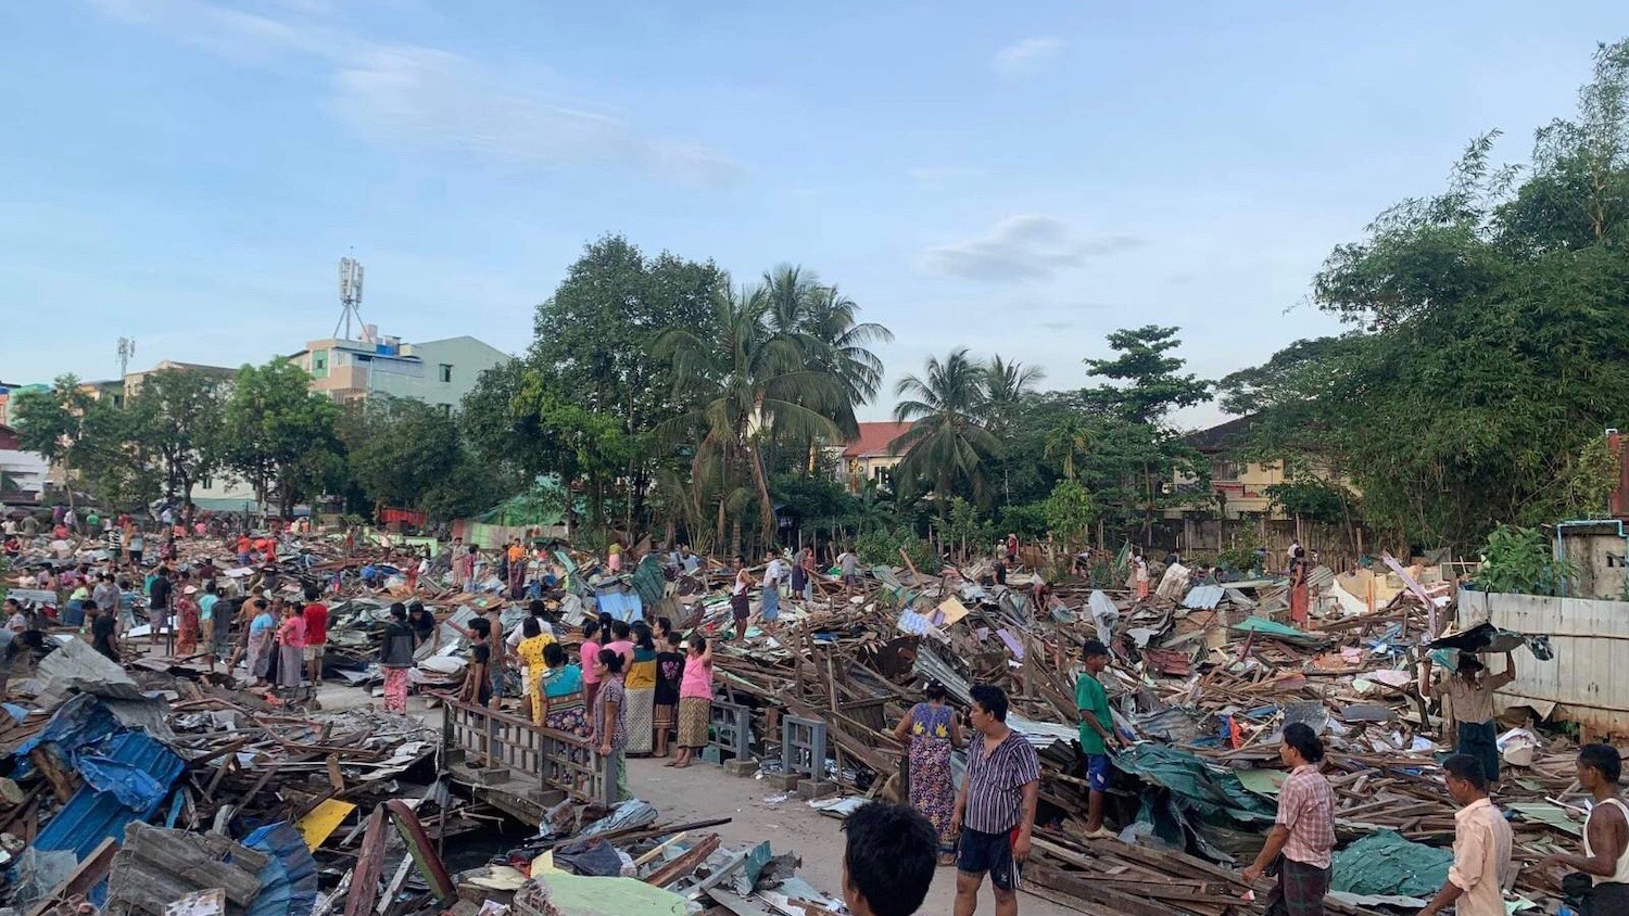
[[[1245,869],[1245,880],[1254,882],[1277,862],[1279,883],[1267,893],[1266,916],[1323,916],[1334,849],[1334,794],[1318,771],[1323,742],[1308,726],[1290,722],[1279,758],[1290,768],[1279,789],[1279,818],[1256,862]]]

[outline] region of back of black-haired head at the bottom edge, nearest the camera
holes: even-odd
[[[933,825],[904,805],[860,805],[842,823],[842,901],[854,916],[911,916],[933,883]]]

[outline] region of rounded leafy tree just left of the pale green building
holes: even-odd
[[[311,376],[288,360],[238,369],[226,399],[226,467],[283,517],[342,469],[337,405],[310,390]]]

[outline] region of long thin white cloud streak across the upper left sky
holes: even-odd
[[[91,0],[103,13],[231,60],[316,59],[332,70],[329,109],[381,145],[468,151],[534,166],[619,161],[658,179],[718,185],[738,163],[700,143],[642,133],[591,106],[549,99],[481,63],[435,47],[378,44],[226,10],[199,0]],[[324,3],[295,8],[321,11]]]

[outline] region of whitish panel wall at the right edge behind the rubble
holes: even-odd
[[[1517,649],[1517,680],[1499,691],[1499,709],[1554,709],[1556,718],[1598,735],[1629,735],[1629,602],[1461,589],[1460,626],[1484,620],[1502,630],[1549,635],[1556,651],[1554,659],[1541,662]],[[1502,665],[1500,657],[1489,659],[1491,670]]]

